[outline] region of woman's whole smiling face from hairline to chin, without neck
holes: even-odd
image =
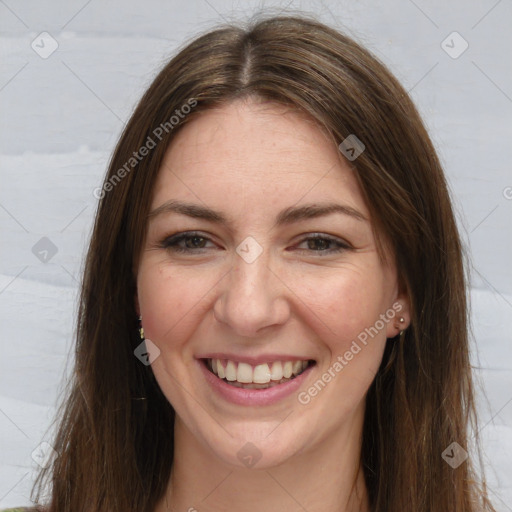
[[[137,308],[180,428],[260,468],[359,436],[408,316],[351,166],[318,126],[254,100],[202,113],[169,147],[150,211]]]

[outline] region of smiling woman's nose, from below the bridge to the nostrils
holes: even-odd
[[[220,285],[214,317],[240,336],[261,336],[290,316],[287,288],[269,267],[265,252],[252,263],[235,255],[233,267]]]

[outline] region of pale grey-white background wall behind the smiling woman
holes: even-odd
[[[92,191],[123,123],[185,40],[287,4],[371,49],[429,127],[471,257],[473,362],[488,397],[479,409],[492,497],[498,510],[512,511],[510,0],[0,0],[0,506],[30,503],[31,453],[51,440],[71,368]],[[58,44],[46,59],[31,47],[51,49],[42,32]],[[32,250],[42,237],[57,251],[46,262]]]

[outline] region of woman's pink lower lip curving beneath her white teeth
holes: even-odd
[[[236,388],[219,379],[212,373],[205,364],[205,361],[198,359],[197,362],[203,372],[206,381],[220,396],[228,402],[237,405],[270,405],[290,396],[297,391],[301,384],[307,379],[315,365],[308,366],[300,375],[288,382],[272,386],[267,389],[244,389]]]

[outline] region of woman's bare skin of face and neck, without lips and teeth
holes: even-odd
[[[367,511],[365,396],[386,339],[409,323],[409,305],[393,255],[377,254],[349,163],[304,117],[237,101],[178,133],[151,211],[168,201],[208,207],[227,222],[164,211],[148,225],[136,304],[160,350],[153,372],[177,414],[173,472],[155,512]],[[324,203],[346,208],[277,223],[288,208]],[[162,243],[181,232],[192,234]],[[262,249],[251,263],[236,252],[247,237]],[[378,333],[357,351],[370,326]],[[315,365],[297,392],[247,407],[212,390],[198,362],[208,352]],[[320,391],[308,391],[329,372]],[[251,467],[239,457],[247,443],[260,457]]]

